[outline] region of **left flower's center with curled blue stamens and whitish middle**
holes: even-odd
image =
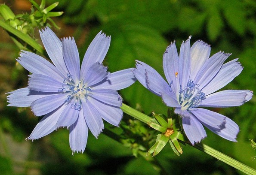
[[[75,98],[75,103],[71,104],[71,108],[80,110],[82,103],[80,98],[85,97],[87,99],[88,94],[93,90],[91,87],[86,87],[83,80],[80,80],[77,84],[74,82],[72,75],[68,74],[68,78],[65,78],[62,83],[62,88],[58,89],[59,92],[68,93],[66,103],[69,103]]]

